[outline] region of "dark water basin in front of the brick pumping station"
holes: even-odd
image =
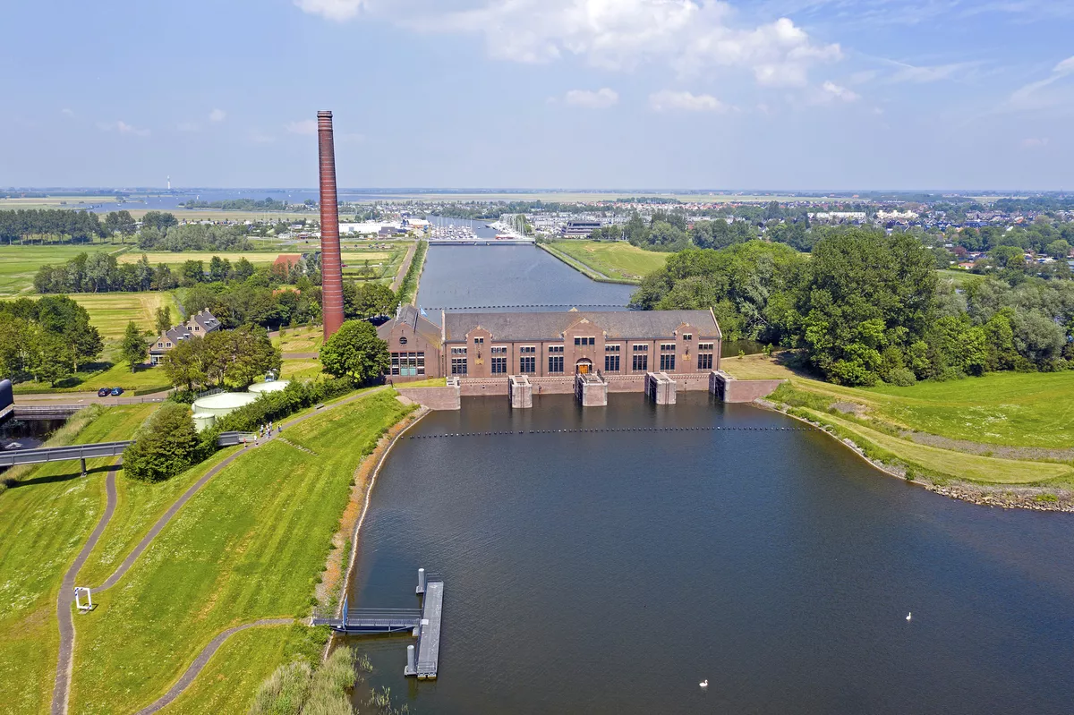
[[[434,250],[422,291],[506,301],[503,250]],[[440,256],[483,281],[429,286]],[[355,640],[372,684],[423,714],[1070,713],[1070,515],[949,500],[816,432],[591,432],[795,425],[703,393],[430,414],[381,470],[350,600],[415,607],[418,567],[444,574],[439,680],[404,678],[410,639]]]

